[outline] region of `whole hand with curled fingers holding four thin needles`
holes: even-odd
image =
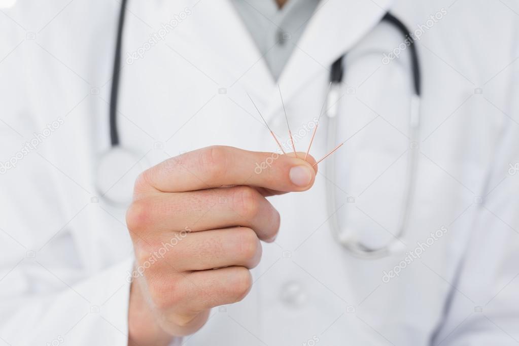
[[[198,330],[211,308],[247,295],[260,240],[279,229],[265,197],[309,189],[316,171],[308,161],[213,146],[139,176],[126,217],[136,256],[130,344],[167,345]]]

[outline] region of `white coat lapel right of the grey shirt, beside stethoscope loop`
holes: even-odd
[[[279,79],[285,103],[316,74],[328,73],[332,63],[373,29],[392,3],[392,0],[378,0],[376,4],[365,0],[322,0],[299,42],[292,42],[294,51]],[[266,116],[279,112],[279,107],[279,103],[272,103]]]

